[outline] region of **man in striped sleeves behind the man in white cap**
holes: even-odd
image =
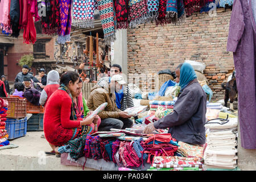
[[[102,81],[109,81],[114,75],[122,75],[122,68],[119,64],[113,64],[110,68],[110,77],[102,77],[98,80],[98,84],[101,84]],[[126,110],[127,107],[133,107],[133,98],[131,97],[131,92],[128,86],[123,85],[122,89],[117,93],[115,92],[115,103],[117,108],[120,110]]]

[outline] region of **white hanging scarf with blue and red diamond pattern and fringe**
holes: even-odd
[[[74,0],[72,25],[79,28],[94,28],[94,10],[97,6],[97,1],[94,0]]]

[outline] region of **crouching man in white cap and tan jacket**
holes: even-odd
[[[89,110],[95,110],[104,102],[108,105],[98,115],[101,118],[101,125],[98,131],[110,131],[110,129],[125,129],[133,126],[133,120],[125,111],[119,110],[115,102],[114,92],[119,93],[126,82],[121,75],[114,75],[109,80],[102,80],[93,86],[89,95],[87,106]]]

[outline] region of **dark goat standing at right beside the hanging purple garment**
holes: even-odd
[[[225,107],[228,105],[228,100],[230,102],[230,109],[233,112],[234,107],[233,107],[233,101],[237,101],[237,82],[236,82],[236,71],[233,71],[232,78],[230,81],[226,83],[221,84],[222,88],[225,89],[225,97],[224,97],[224,102],[225,102]]]

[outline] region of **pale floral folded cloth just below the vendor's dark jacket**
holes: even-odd
[[[178,142],[179,148],[177,149],[180,154],[186,156],[188,158],[196,157],[196,158],[203,158],[204,155],[204,147],[199,146],[192,146],[191,144]]]

